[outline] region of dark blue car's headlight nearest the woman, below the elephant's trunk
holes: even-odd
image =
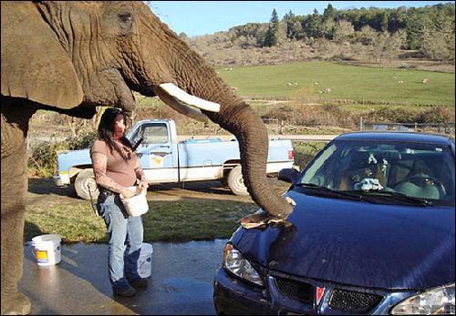
[[[263,280],[252,264],[243,258],[239,250],[233,248],[233,245],[226,244],[223,250],[223,268],[229,270],[237,277],[248,280],[256,285],[263,286]]]

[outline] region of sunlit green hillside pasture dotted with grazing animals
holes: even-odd
[[[389,104],[454,107],[454,74],[405,68],[373,68],[312,61],[217,69],[243,97],[321,97]],[[423,79],[427,83],[423,84]],[[316,85],[318,82],[318,85]],[[288,85],[297,83],[297,85]],[[320,94],[330,88],[329,93]]]

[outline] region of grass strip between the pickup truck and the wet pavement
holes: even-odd
[[[53,233],[66,243],[108,242],[104,220],[89,205],[77,199],[47,208],[27,207],[24,240]],[[142,216],[146,242],[229,238],[238,227],[236,221],[257,209],[254,203],[205,199],[149,201],[149,208]]]

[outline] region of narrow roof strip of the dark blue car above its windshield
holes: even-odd
[[[334,140],[368,140],[368,141],[399,141],[432,143],[441,145],[451,145],[451,138],[439,134],[416,133],[416,132],[352,132],[337,136]]]

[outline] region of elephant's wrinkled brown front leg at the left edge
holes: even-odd
[[[30,301],[18,290],[24,258],[24,222],[27,190],[26,132],[34,110],[9,111],[2,100],[1,292],[2,314],[30,312]],[[12,114],[13,113],[13,114]],[[21,113],[19,115],[18,113]]]

